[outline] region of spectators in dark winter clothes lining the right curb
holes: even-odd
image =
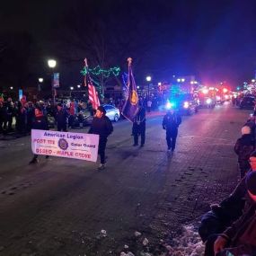
[[[241,180],[228,198],[211,205],[201,218],[199,235],[206,256],[256,255],[255,118],[254,113],[246,120],[234,145]]]

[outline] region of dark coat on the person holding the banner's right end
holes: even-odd
[[[90,134],[98,134],[100,137],[108,137],[113,132],[113,126],[110,119],[106,116],[102,118],[93,118],[91,128],[89,129]]]

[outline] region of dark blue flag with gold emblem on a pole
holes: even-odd
[[[131,69],[132,58],[128,57],[128,96],[122,109],[123,116],[133,122],[133,119],[137,115],[138,107],[138,96],[137,86]]]

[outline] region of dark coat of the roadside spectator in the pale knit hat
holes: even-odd
[[[253,150],[254,142],[251,134],[245,134],[238,138],[234,145],[234,152],[238,155],[238,162],[248,161]]]

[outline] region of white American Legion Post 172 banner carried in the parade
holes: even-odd
[[[99,135],[32,129],[33,154],[46,154],[96,162]]]

